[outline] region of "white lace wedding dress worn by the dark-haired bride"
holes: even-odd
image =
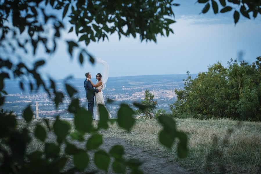
[[[103,87],[103,82],[102,82],[102,85],[96,87],[96,89],[102,90],[102,87]],[[96,119],[96,120],[100,119],[100,113],[99,113],[99,108],[98,108],[99,104],[102,104],[105,106],[102,91],[100,93],[95,93],[95,108],[94,108],[93,119]],[[105,106],[105,108],[106,108],[106,106]],[[108,111],[108,109],[107,109],[107,111]],[[108,115],[109,115],[109,118],[111,118],[111,114],[109,113],[109,111],[108,111]]]

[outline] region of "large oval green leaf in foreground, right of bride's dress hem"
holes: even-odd
[[[120,127],[130,131],[135,123],[134,111],[127,104],[121,104],[118,110],[118,124]]]

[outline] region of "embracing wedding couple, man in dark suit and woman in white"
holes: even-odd
[[[104,70],[105,77],[102,77],[102,75],[100,73],[98,73],[96,75],[96,80],[98,82],[96,84],[93,84],[93,82],[91,81],[91,74],[85,73],[86,79],[84,80],[84,88],[85,88],[86,97],[88,99],[88,111],[91,113],[91,115],[93,115],[93,119],[99,120],[100,114],[99,114],[98,105],[102,104],[105,106],[102,89],[105,89],[105,87],[106,87],[109,68],[105,61],[101,61],[100,59],[98,59],[96,61],[98,61],[98,63],[102,63],[105,65],[105,70]],[[95,87],[95,89],[93,87]],[[95,109],[94,109],[94,114],[93,114],[94,96],[95,96]],[[111,118],[111,114],[109,112],[108,112],[108,114],[109,114],[109,117]]]

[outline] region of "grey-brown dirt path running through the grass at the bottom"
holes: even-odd
[[[84,148],[84,143],[74,142],[80,148]],[[120,138],[103,138],[103,144],[100,146],[101,149],[105,151],[109,151],[111,147],[115,144],[122,145],[125,149],[125,157],[126,158],[139,158],[144,163],[141,165],[140,169],[147,174],[150,173],[177,173],[177,174],[190,174],[192,173],[186,168],[183,168],[179,164],[171,161],[170,157],[162,156],[161,152],[154,152],[154,151],[146,151],[145,147],[141,146],[133,146],[131,142],[127,142],[124,139]],[[89,151],[90,156],[90,164],[88,168],[88,172],[91,171],[98,171],[98,173],[105,173],[104,171],[99,171],[96,168],[95,164],[93,163],[93,151]],[[66,165],[66,168],[71,168],[73,166],[73,158],[69,158],[69,162]],[[114,173],[111,166],[109,167],[108,173]],[[130,173],[130,170],[127,169],[126,173]]]

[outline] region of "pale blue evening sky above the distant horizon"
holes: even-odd
[[[235,25],[233,12],[214,14],[210,8],[207,14],[199,14],[204,5],[195,4],[195,1],[174,1],[181,4],[173,8],[177,22],[170,27],[174,34],[170,33],[169,37],[158,35],[157,43],[141,42],[139,37],[132,36],[119,40],[115,33],[109,36],[109,41],[91,42],[87,50],[94,57],[107,61],[109,77],[186,74],[187,71],[197,74],[207,71],[208,66],[217,61],[226,66],[227,61],[237,59],[240,52],[242,59],[249,63],[261,56],[260,14],[251,20],[241,15]],[[70,25],[66,28],[68,31]],[[74,33],[67,32],[63,38],[78,40]],[[81,46],[85,44],[81,43]],[[93,66],[87,60],[81,66],[78,53],[70,59],[63,41],[59,41],[51,56],[41,50],[37,53],[47,57],[47,64],[41,68],[46,77],[85,78],[86,72],[96,75],[103,71],[102,65]]]

